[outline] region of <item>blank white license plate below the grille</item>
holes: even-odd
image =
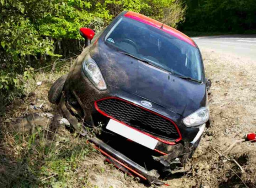
[[[158,143],[158,140],[156,140],[155,138],[136,131],[135,129],[123,125],[122,123],[119,123],[112,119],[110,119],[106,128],[150,149],[155,149],[155,146]]]

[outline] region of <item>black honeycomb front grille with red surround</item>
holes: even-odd
[[[95,102],[95,107],[103,115],[110,116],[156,137],[168,140],[180,138],[174,122],[126,100],[119,98],[101,99]]]

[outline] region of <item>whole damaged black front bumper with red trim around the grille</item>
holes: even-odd
[[[124,141],[129,143],[128,141],[130,141],[106,130],[106,123],[104,123],[104,121],[108,121],[110,118],[115,118],[112,116],[103,115],[102,113],[98,113],[99,111],[96,105],[96,101],[100,101],[106,98],[122,99],[136,106],[142,106],[140,102],[143,100],[140,98],[140,96],[127,93],[125,91],[119,90],[116,87],[108,86],[108,89],[104,91],[96,89],[94,85],[89,81],[89,79],[87,79],[87,77],[81,72],[81,68],[78,66],[74,68],[66,80],[62,93],[62,99],[59,103],[59,108],[62,110],[66,118],[68,118],[74,129],[82,134],[86,134],[85,127],[100,126],[103,133],[101,135],[96,135],[95,138],[90,139],[90,142],[94,143],[95,147],[99,149],[104,155],[111,157],[114,161],[127,168],[129,171],[132,171],[133,174],[139,176],[142,179],[148,180],[148,182],[151,184],[159,183],[157,180],[159,177],[159,170],[168,171],[171,173],[184,172],[188,170],[187,164],[189,164],[190,158],[194,150],[197,148],[204,126],[188,128],[183,125],[182,117],[180,115],[169,111],[158,104],[153,104],[152,107],[148,108],[148,111],[154,112],[155,114],[173,121],[177,126],[176,128],[179,132],[179,138],[164,139],[150,134],[154,138],[159,138],[154,150],[152,152],[149,151],[149,155],[151,155],[150,157],[159,164],[159,168],[156,170],[146,170],[146,168],[134,162],[127,155],[122,154],[116,148],[106,144],[108,143],[108,140],[111,140],[112,138],[121,140],[120,142]],[[106,116],[106,118],[103,118],[102,121],[98,121],[98,118],[102,118],[102,115]],[[77,126],[79,119],[84,121],[84,131],[82,132]],[[105,135],[105,137],[102,137],[102,135]],[[132,146],[126,145],[126,147]]]

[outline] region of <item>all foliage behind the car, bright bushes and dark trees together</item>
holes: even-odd
[[[80,53],[80,27],[97,32],[123,10],[191,36],[256,33],[255,0],[0,0],[0,114],[34,69]]]

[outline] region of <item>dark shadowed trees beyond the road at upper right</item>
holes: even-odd
[[[255,34],[255,0],[183,0],[187,5],[182,31],[203,34]],[[198,34],[200,34],[198,33]],[[198,35],[197,34],[197,35]]]

